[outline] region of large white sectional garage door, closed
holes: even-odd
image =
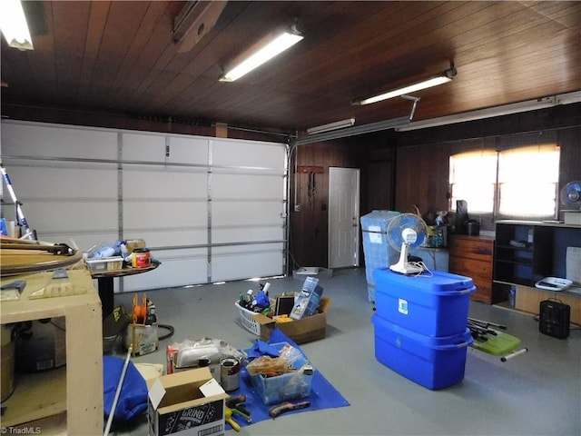
[[[162,266],[117,290],[285,272],[285,144],[3,121],[1,151],[40,240],[145,240]]]

